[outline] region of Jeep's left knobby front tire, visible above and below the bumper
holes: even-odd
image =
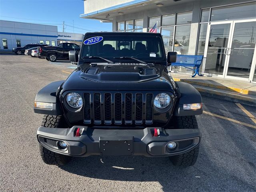
[[[67,124],[63,116],[44,115],[41,126],[48,128],[66,128]],[[49,165],[64,165],[71,159],[70,156],[52,152],[41,144],[39,144],[39,152],[43,162]]]

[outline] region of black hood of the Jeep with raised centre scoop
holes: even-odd
[[[162,90],[174,93],[174,81],[164,66],[84,64],[62,86],[66,90]]]

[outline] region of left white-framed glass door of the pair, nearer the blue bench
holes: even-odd
[[[208,25],[204,55],[204,73],[210,76],[224,77],[230,44],[232,21],[211,22]]]

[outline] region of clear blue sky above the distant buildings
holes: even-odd
[[[55,25],[59,32],[63,21],[64,32],[112,31],[112,23],[82,19],[80,14],[84,14],[83,0],[0,0],[0,20]]]

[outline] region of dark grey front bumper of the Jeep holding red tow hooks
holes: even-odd
[[[81,136],[75,136],[80,128]],[[68,156],[90,155],[143,155],[147,157],[172,156],[185,153],[198,146],[201,133],[198,129],[164,129],[159,136],[153,136],[154,128],[144,129],[93,129],[87,126],[72,128],[46,128],[37,130],[38,142],[48,150]],[[60,149],[58,141],[67,144]],[[168,142],[177,143],[170,150]]]

